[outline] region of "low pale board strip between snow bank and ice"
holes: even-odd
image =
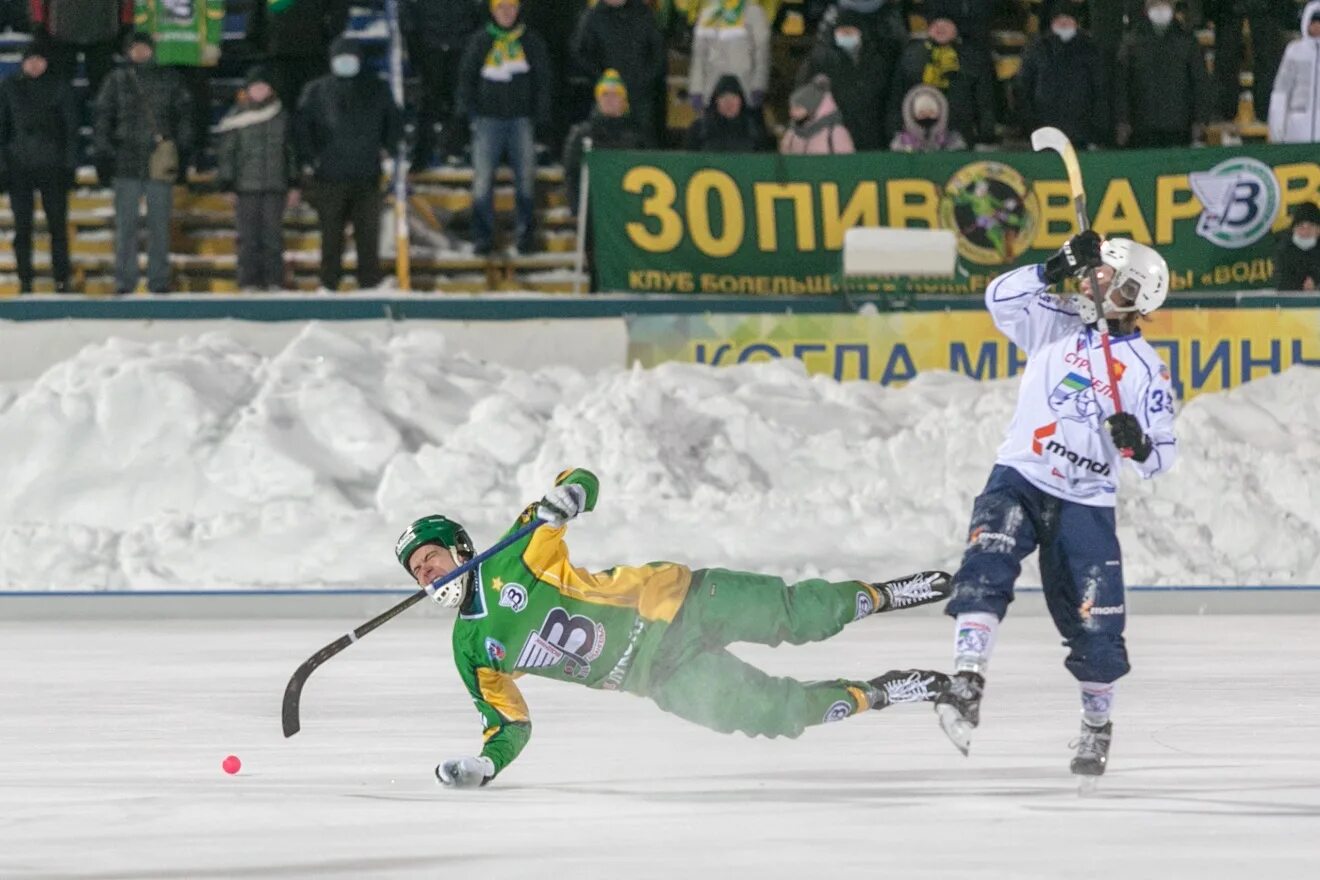
[[[272,590],[272,591],[125,591],[0,592],[4,620],[243,620],[323,619],[358,621],[374,617],[409,595],[407,590]],[[1151,615],[1288,615],[1320,613],[1320,586],[1129,587],[1130,613]],[[940,608],[906,611],[939,615]],[[1019,587],[1015,616],[1045,613],[1040,587]],[[442,617],[421,603],[409,616]]]

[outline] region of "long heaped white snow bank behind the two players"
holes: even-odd
[[[391,550],[412,519],[486,545],[569,466],[602,479],[573,526],[589,567],[950,567],[1015,393],[796,361],[527,372],[434,332],[318,325],[273,356],[116,339],[0,387],[0,587],[405,586]],[[1189,404],[1175,471],[1125,486],[1129,582],[1320,583],[1317,400],[1299,367]]]

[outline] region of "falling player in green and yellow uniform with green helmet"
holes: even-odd
[[[933,702],[946,676],[890,672],[870,681],[776,678],[727,650],[735,641],[777,645],[828,639],[867,615],[937,602],[949,575],[924,571],[883,583],[801,581],[676,562],[586,571],[569,562],[565,524],[595,507],[590,471],[565,471],[513,529],[545,525],[474,571],[442,584],[458,608],[454,664],[482,715],[478,757],[444,761],[437,778],[475,788],[495,778],[532,734],[513,679],[524,673],[649,697],[660,708],[721,732],[799,736],[892,703]],[[426,516],[399,537],[399,562],[421,586],[474,555],[463,528]]]

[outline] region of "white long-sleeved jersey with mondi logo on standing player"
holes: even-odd
[[[995,460],[1056,497],[1114,507],[1125,459],[1104,426],[1114,401],[1100,334],[1082,325],[1071,302],[1049,294],[1040,276],[1041,267],[1023,267],[986,289],[995,326],[1027,355],[1018,409]],[[1150,458],[1131,463],[1151,478],[1177,454],[1168,367],[1139,331],[1109,342],[1123,410],[1154,445]]]

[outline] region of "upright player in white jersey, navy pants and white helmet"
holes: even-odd
[[[1115,412],[1090,282],[1081,296],[1051,285],[1094,269],[1104,292]],[[1022,559],[1040,550],[1045,604],[1081,689],[1082,724],[1072,772],[1105,772],[1114,682],[1129,670],[1123,571],[1114,496],[1125,460],[1144,478],[1173,463],[1173,388],[1137,322],[1164,302],[1168,265],[1154,249],[1082,232],[1041,265],[1014,269],[986,289],[995,326],[1027,355],[1018,409],[990,480],[975,500],[946,613],[954,678],[937,701],[944,731],[964,752],[979,723],[986,666],[1012,602]]]

